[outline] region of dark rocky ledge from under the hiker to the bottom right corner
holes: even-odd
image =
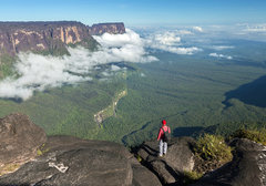
[[[206,173],[200,180],[188,184],[185,172],[198,169],[193,153],[194,140],[190,137],[173,138],[168,153],[157,158],[157,143],[145,142],[135,149],[142,164],[149,167],[163,185],[191,186],[265,186],[266,185],[266,147],[246,138],[234,138],[233,161]]]

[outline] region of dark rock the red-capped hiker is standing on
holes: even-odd
[[[182,177],[181,173],[194,168],[193,144],[194,140],[191,137],[173,138],[168,143],[167,154],[160,158],[158,142],[145,142],[136,149],[136,154],[162,183],[177,184]]]

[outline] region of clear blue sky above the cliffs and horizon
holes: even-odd
[[[266,0],[0,0],[0,21],[126,25],[265,23]]]

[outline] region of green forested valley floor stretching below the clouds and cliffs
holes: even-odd
[[[235,58],[229,61],[211,58],[207,50],[195,55],[153,51],[158,61],[126,63],[126,72],[104,81],[95,72],[92,81],[37,92],[24,102],[2,99],[0,116],[21,112],[48,135],[126,146],[155,140],[162,120],[167,121],[173,136],[227,135],[242,127],[265,127],[266,44],[233,44]],[[258,46],[249,50],[250,44]],[[126,95],[119,100],[115,115],[95,122],[94,114],[113,104],[122,91]]]

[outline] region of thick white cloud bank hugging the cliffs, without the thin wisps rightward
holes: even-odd
[[[69,48],[70,55],[61,58],[20,53],[14,70],[20,75],[0,82],[0,97],[30,99],[35,91],[90,81],[88,75],[99,64],[110,62],[152,62],[139,34],[126,30],[124,34],[95,37],[102,44],[96,52],[83,48]],[[112,66],[117,70],[119,66]]]

